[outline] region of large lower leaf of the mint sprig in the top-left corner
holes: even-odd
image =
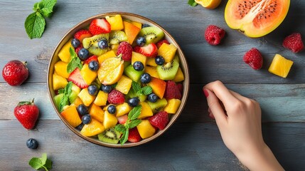
[[[41,38],[45,30],[46,21],[39,12],[30,14],[24,23],[29,38]]]

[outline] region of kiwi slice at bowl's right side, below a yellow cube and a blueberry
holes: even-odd
[[[176,60],[165,63],[163,66],[156,66],[156,71],[159,74],[159,78],[162,80],[172,80],[175,78],[179,68],[179,63]]]

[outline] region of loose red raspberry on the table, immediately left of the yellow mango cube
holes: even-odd
[[[262,54],[257,48],[251,48],[250,51],[247,51],[244,56],[244,61],[255,70],[262,68]]]

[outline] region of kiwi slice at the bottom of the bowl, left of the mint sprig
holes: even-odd
[[[102,142],[117,144],[117,142],[119,142],[120,136],[121,133],[119,133],[117,130],[114,128],[109,128],[108,130],[105,130],[104,132],[97,135],[97,138]]]

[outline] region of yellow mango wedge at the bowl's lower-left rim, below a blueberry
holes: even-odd
[[[104,130],[104,125],[92,118],[91,123],[85,124],[80,133],[86,137],[92,137],[104,132]]]

